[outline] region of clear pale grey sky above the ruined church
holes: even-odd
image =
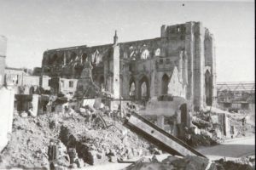
[[[184,3],[184,6],[182,5]],[[254,2],[0,0],[7,65],[41,66],[50,48],[160,37],[160,26],[201,21],[216,40],[218,82],[254,82]]]

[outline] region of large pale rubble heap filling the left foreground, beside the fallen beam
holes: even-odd
[[[90,118],[75,111],[37,117],[15,114],[9,144],[0,155],[0,167],[49,167],[50,139],[57,141],[58,164],[63,167],[69,166],[72,143],[77,153],[73,167],[148,155],[148,142],[103,113],[95,110]],[[103,114],[106,128],[97,114]]]

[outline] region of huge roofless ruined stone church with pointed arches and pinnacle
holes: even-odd
[[[112,44],[45,51],[42,75],[56,88],[60,78],[78,79],[77,95],[98,89],[115,99],[171,94],[197,110],[216,99],[214,50],[214,38],[201,22],[161,26],[160,37],[134,42],[118,42],[115,32]]]

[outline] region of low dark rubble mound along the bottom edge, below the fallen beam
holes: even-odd
[[[247,161],[254,161],[248,158]],[[207,158],[200,156],[168,156],[166,159],[159,161],[156,156],[152,158],[145,158],[134,162],[125,170],[148,170],[148,169],[161,169],[161,170],[253,170],[255,163],[246,161],[210,161]]]

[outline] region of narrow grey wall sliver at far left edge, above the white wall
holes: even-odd
[[[0,88],[4,85],[6,48],[7,38],[0,35]]]

